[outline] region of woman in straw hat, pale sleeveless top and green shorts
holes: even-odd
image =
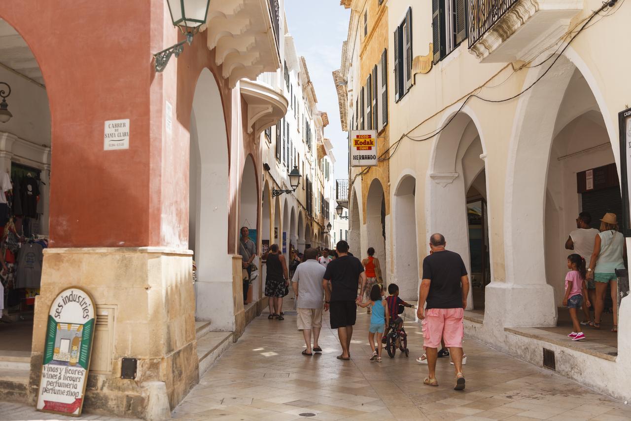
[[[601,315],[603,314],[604,296],[607,286],[611,288],[611,300],[613,301],[613,329],[618,331],[618,278],[616,269],[624,269],[624,253],[627,252],[625,237],[618,232],[618,219],[616,214],[606,213],[600,220],[600,232],[594,240],[594,253],[589,261],[587,279],[596,281],[596,304],[594,308],[594,327],[600,329]]]

